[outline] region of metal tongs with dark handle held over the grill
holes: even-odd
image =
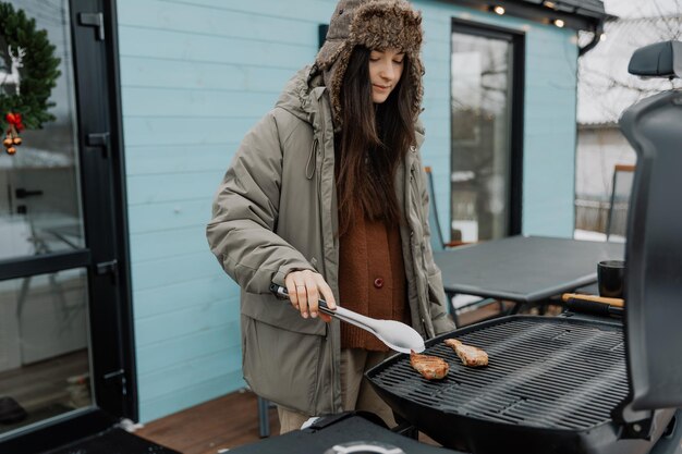
[[[287,289],[281,285],[270,285],[270,292],[280,299],[289,299]],[[426,348],[419,333],[405,323],[395,320],[377,320],[345,309],[339,305],[337,305],[336,309],[329,309],[327,302],[324,299],[318,299],[317,304],[320,312],[368,331],[395,352],[410,353],[410,351],[415,351],[416,353],[421,353]]]

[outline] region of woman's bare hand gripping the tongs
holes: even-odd
[[[294,309],[301,311],[301,317],[317,317],[326,322],[331,321],[331,317],[318,311],[318,299],[320,294],[322,299],[327,302],[327,307],[336,309],[337,304],[333,299],[333,293],[329,284],[321,274],[310,270],[292,271],[284,278],[289,299]]]

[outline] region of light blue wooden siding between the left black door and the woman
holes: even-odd
[[[333,5],[118,2],[143,421],[244,385],[239,289],[204,229],[239,143],[314,59]]]

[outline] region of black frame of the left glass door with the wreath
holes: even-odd
[[[93,405],[0,437],[1,452],[38,453],[138,419],[117,4],[69,0],[69,8],[86,247],[0,260],[0,280],[87,269]]]

